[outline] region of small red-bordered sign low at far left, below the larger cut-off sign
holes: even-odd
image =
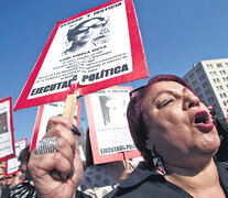
[[[13,174],[19,172],[19,167],[20,167],[21,163],[20,163],[20,161],[18,158],[19,158],[19,155],[20,155],[21,151],[24,147],[26,147],[26,145],[28,145],[28,140],[26,139],[17,141],[14,143],[15,157],[10,158],[10,160],[7,161],[7,164],[6,164],[6,176],[13,175]]]

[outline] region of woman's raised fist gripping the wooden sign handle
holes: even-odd
[[[39,197],[64,197],[74,195],[83,178],[83,163],[77,146],[77,135],[72,132],[72,121],[53,117],[44,139],[57,136],[55,153],[31,153],[29,169]]]

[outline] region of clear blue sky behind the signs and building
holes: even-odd
[[[105,2],[108,1],[1,0],[0,96],[12,96],[15,103],[57,21]],[[228,57],[227,0],[133,0],[133,3],[150,76],[183,77],[193,64]],[[137,88],[146,80],[126,85]],[[35,107],[13,112],[15,141],[26,138],[31,142],[36,111]],[[84,106],[82,118],[87,120]]]

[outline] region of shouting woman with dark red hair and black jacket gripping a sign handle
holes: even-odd
[[[214,161],[220,145],[218,132],[208,108],[183,79],[151,78],[131,92],[127,117],[144,162],[105,197],[228,197],[228,165]],[[66,118],[50,122],[43,143],[51,142],[55,150],[44,154],[37,148],[29,163],[40,197],[88,197],[76,191],[83,165],[73,123]],[[156,172],[156,166],[163,166],[164,173]],[[62,179],[52,177],[53,169]]]

